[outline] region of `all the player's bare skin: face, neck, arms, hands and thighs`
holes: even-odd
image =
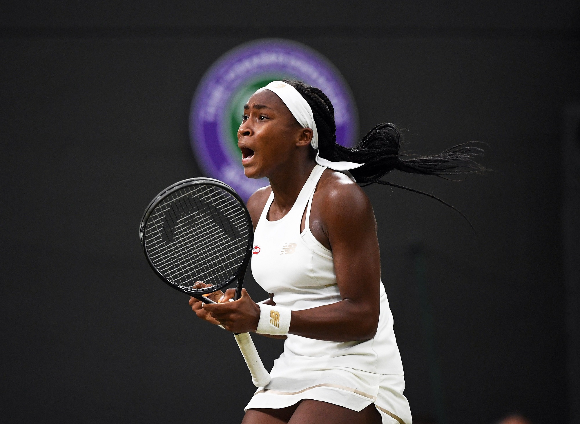
[[[274,201],[269,221],[284,217],[298,198],[316,162],[310,141],[313,131],[296,121],[280,98],[262,89],[244,107],[238,147],[248,178],[267,177],[270,186],[248,200],[254,229],[270,193]],[[375,336],[379,321],[380,257],[376,221],[371,203],[345,174],[327,169],[314,192],[310,222],[306,211],[300,231],[309,225],[313,236],[332,251],[336,282],[342,300],[331,305],[292,311],[289,333],[327,341],[362,341]],[[205,286],[204,283],[198,283]],[[231,332],[256,331],[260,308],[245,289],[237,301],[234,289],[210,295],[219,304],[190,298],[196,315]],[[270,295],[268,304],[275,305]],[[278,336],[280,337],[280,336]],[[285,336],[282,336],[285,338]],[[372,408],[371,408],[372,407]],[[380,415],[369,405],[360,412],[321,401],[305,400],[280,410],[248,410],[244,424],[307,422],[378,423]]]

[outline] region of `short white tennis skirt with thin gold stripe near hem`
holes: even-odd
[[[403,396],[403,375],[374,374],[343,367],[297,370],[274,365],[271,376],[266,387],[256,390],[245,411],[285,408],[303,399],[320,400],[353,411],[361,411],[374,403],[383,424],[412,424],[409,403]]]

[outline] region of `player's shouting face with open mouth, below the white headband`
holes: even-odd
[[[312,130],[300,126],[280,97],[270,90],[258,90],[244,106],[238,130],[245,176],[270,176],[298,149],[309,145],[311,138]]]

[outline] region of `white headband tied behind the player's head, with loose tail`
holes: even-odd
[[[314,122],[314,114],[308,102],[302,97],[302,94],[298,93],[291,85],[282,81],[272,81],[266,87],[262,88],[268,89],[280,97],[298,123],[303,128],[310,128],[312,130],[313,135],[310,145],[316,150],[316,163],[318,165],[335,171],[346,171],[364,165],[364,163],[354,162],[331,162],[331,160],[321,158],[320,151],[318,151],[318,130],[316,129],[316,122]]]

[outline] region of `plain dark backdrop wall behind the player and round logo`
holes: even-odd
[[[0,6],[2,421],[240,422],[253,386],[233,337],[155,277],[137,226],[162,188],[201,176],[188,116],[204,72],[282,37],[342,72],[362,134],[386,120],[415,152],[489,145],[484,177],[389,175],[454,204],[478,236],[431,199],[366,189],[414,415],[572,422],[561,138],[564,105],[580,101],[579,12],[571,0]],[[270,367],[281,343],[255,339]]]

